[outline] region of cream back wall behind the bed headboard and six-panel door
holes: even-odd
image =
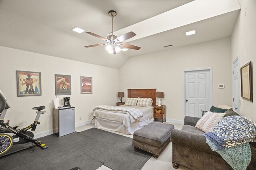
[[[120,89],[157,88],[164,92],[161,100],[166,105],[166,118],[183,120],[182,70],[212,67],[214,106],[232,106],[230,63],[230,38],[135,56],[120,69]],[[219,89],[218,84],[225,88]]]

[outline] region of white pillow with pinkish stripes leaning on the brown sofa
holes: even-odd
[[[212,113],[211,111],[207,111],[204,116],[199,119],[195,127],[205,133],[210,132],[225,114],[226,113]]]

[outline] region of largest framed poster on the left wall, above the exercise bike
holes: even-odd
[[[17,96],[41,96],[41,72],[16,71]]]

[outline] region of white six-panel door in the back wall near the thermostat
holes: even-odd
[[[202,117],[212,106],[212,69],[184,72],[185,116]]]

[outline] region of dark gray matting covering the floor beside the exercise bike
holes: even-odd
[[[36,147],[34,151],[28,149],[0,158],[0,169],[69,170],[80,167],[81,170],[95,170],[103,164],[113,170],[140,170],[152,156],[142,150],[134,151],[131,138],[96,128],[63,137],[49,135],[39,140],[46,143],[48,149]]]

